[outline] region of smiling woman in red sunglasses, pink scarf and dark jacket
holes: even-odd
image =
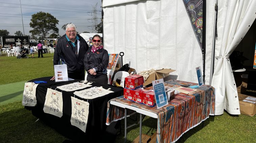
[[[101,36],[92,37],[93,46],[85,53],[84,67],[87,71],[87,81],[108,84],[107,66],[109,61],[108,51],[101,45]]]

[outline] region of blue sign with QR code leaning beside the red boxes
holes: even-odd
[[[163,78],[152,81],[152,84],[154,88],[157,109],[168,105]]]

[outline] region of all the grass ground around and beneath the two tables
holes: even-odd
[[[31,57],[31,56],[29,56]],[[35,55],[37,57],[37,54]],[[16,59],[0,56],[0,143],[61,143],[67,138],[48,127],[31,111],[21,104],[24,83],[27,80],[53,75],[53,54],[44,54],[44,58]],[[128,119],[128,125],[134,121]],[[143,120],[143,134],[152,135],[156,131],[157,120],[146,116]],[[124,141],[124,120],[121,123],[122,134],[116,137],[116,143]],[[128,143],[139,134],[139,125],[127,130]],[[254,143],[256,116],[230,115],[224,112],[220,116],[210,116],[197,127],[186,132],[178,143],[205,142],[244,142]]]

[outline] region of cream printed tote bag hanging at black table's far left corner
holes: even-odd
[[[26,82],[24,86],[22,105],[23,106],[36,106],[37,98],[36,98],[36,88],[38,84],[34,82]]]

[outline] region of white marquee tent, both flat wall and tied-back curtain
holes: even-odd
[[[240,114],[229,55],[255,20],[256,0],[218,1],[218,37],[212,56],[216,1],[206,3],[205,80],[216,89],[215,115],[224,109]],[[202,67],[202,53],[184,0],[103,0],[102,6],[104,48],[109,53],[123,51],[124,63],[131,62],[138,72],[171,68],[178,80],[197,82],[195,68]]]

